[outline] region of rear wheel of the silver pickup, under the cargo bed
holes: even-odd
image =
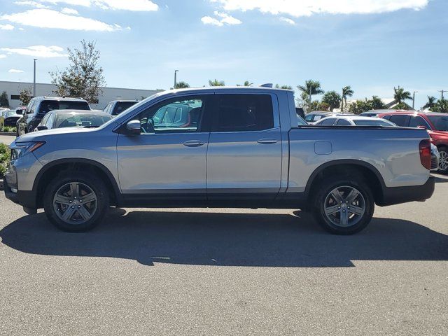
[[[313,197],[316,221],[336,235],[353,235],[372,219],[374,198],[362,176],[332,176],[322,181]]]

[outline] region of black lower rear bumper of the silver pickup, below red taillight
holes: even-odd
[[[422,202],[430,198],[434,193],[435,179],[429,176],[428,181],[422,186],[384,188],[383,199],[377,204],[381,207],[386,205],[400,204],[406,202]]]

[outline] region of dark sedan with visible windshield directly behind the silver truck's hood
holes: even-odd
[[[103,111],[53,110],[45,114],[35,131],[62,127],[99,127],[112,119]]]

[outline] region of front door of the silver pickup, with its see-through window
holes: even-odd
[[[141,134],[119,135],[118,174],[125,196],[206,199],[209,130],[203,122],[209,97],[155,104],[134,118]]]

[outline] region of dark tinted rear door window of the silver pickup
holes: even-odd
[[[269,94],[216,94],[215,132],[247,132],[274,128]]]

